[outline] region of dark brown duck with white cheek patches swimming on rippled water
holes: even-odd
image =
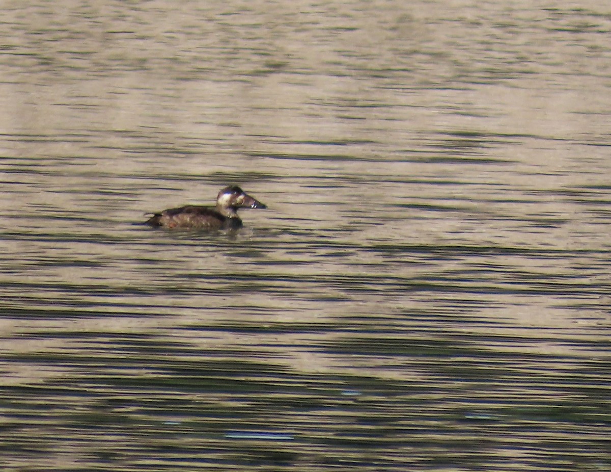
[[[243,226],[238,208],[265,209],[267,206],[244,193],[237,185],[229,185],[219,191],[216,207],[186,205],[159,213],[148,213],[153,216],[145,224],[167,229],[236,230]]]

